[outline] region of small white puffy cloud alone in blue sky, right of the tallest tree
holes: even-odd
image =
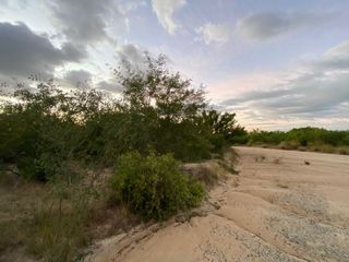
[[[231,35],[230,28],[228,26],[212,23],[207,23],[196,28],[196,33],[203,37],[206,45],[209,45],[212,43],[227,43]]]

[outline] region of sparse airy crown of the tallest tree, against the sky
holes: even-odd
[[[165,56],[154,59],[145,53],[146,70],[134,69],[127,61],[115,70],[124,87],[123,100],[133,111],[153,110],[159,119],[180,122],[206,108],[202,87],[192,87],[191,80],[166,68]]]

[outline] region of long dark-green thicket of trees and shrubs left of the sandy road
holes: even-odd
[[[29,179],[71,176],[71,162],[113,165],[130,151],[154,148],[184,162],[209,158],[245,131],[234,114],[207,110],[204,92],[145,56],[143,71],[115,70],[120,99],[95,90],[64,91],[53,81],[20,88],[0,111],[0,160]]]

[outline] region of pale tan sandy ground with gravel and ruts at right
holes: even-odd
[[[107,239],[89,260],[349,261],[349,156],[236,150],[240,175],[205,216]]]

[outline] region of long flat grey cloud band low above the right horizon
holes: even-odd
[[[257,110],[261,116],[268,118],[333,115],[349,100],[348,83],[348,73],[326,79],[300,80],[286,84],[287,90],[251,92],[221,105],[248,111]]]

